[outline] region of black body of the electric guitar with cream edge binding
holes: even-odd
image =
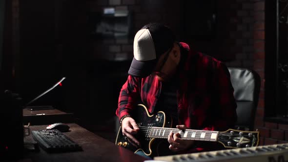
[[[171,127],[172,120],[166,117],[163,111],[159,111],[154,115],[150,115],[147,108],[143,104],[139,104],[132,114],[132,118],[140,127]],[[169,151],[167,139],[148,138],[150,129],[140,128],[135,138],[141,143],[141,148],[133,146],[128,139],[123,136],[120,126],[116,142],[118,146],[127,148],[134,153],[142,150],[147,156],[161,156],[162,152]],[[165,151],[164,151],[165,150]]]

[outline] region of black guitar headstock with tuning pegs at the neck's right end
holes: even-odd
[[[259,132],[228,129],[225,132],[219,132],[218,142],[226,148],[254,147],[258,146]]]

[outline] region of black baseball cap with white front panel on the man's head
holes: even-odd
[[[144,25],[134,37],[134,58],[128,74],[141,78],[150,75],[159,57],[172,48],[174,41],[174,33],[164,24],[149,23]]]

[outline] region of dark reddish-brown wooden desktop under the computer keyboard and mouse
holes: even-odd
[[[100,136],[89,132],[81,126],[71,123],[70,132],[64,133],[82,146],[83,151],[68,153],[47,153],[40,148],[39,152],[24,154],[20,162],[143,162],[142,156],[115,145]],[[47,125],[30,126],[31,130],[45,129]],[[33,140],[31,134],[24,141]]]

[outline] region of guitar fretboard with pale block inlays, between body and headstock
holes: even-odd
[[[195,140],[195,141],[218,141],[218,131],[206,131],[206,130],[193,130],[185,129],[180,130],[177,128],[163,128],[152,127],[149,133],[150,138],[162,138],[167,139],[169,133],[180,133],[183,140]]]

